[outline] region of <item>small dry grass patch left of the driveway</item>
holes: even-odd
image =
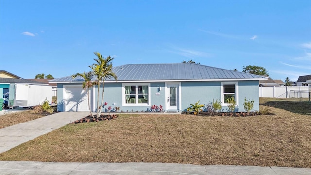
[[[19,123],[24,123],[37,118],[41,118],[46,114],[36,113],[31,110],[22,112],[10,112],[4,115],[0,115],[0,128],[5,128]]]

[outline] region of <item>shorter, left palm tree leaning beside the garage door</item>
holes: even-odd
[[[83,73],[75,73],[74,75],[72,75],[72,78],[76,78],[76,77],[82,77],[84,82],[82,83],[82,88],[84,90],[87,90],[87,103],[88,103],[88,109],[89,109],[89,112],[91,113],[91,116],[94,118],[94,115],[92,114],[92,111],[91,111],[91,105],[89,103],[89,88],[93,87],[94,85],[97,84],[96,81],[92,81],[93,77],[94,77],[94,73],[92,71],[90,72],[83,72]]]

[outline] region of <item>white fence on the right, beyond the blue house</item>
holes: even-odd
[[[308,98],[309,86],[259,87],[259,97]]]

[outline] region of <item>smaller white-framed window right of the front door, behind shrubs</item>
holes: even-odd
[[[222,82],[221,83],[221,101],[223,106],[227,105],[227,100],[231,97],[234,98],[238,104],[238,82]]]

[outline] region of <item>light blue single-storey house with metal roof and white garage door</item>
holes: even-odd
[[[244,98],[254,100],[254,110],[259,110],[259,81],[267,79],[194,63],[127,64],[113,71],[118,80],[105,80],[104,102],[108,104],[102,111],[108,106],[147,111],[151,105],[162,105],[165,111],[184,111],[199,100],[201,104],[220,100],[227,111],[226,99],[230,97],[235,98],[239,111],[244,111]],[[58,111],[88,111],[82,82],[81,77],[71,76],[50,81],[57,83]],[[89,90],[92,111],[97,109],[97,90]]]

